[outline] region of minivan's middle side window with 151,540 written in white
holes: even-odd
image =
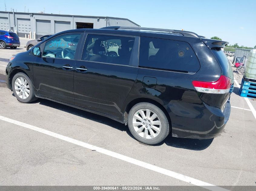
[[[135,38],[88,34],[82,60],[129,65]]]

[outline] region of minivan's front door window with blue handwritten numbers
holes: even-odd
[[[74,59],[81,34],[66,34],[45,43],[43,57]]]

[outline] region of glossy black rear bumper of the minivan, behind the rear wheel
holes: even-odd
[[[169,114],[172,136],[180,138],[208,139],[218,136],[226,126],[231,112],[229,101],[223,112],[216,107],[191,103],[178,103],[178,106],[176,110],[172,108]]]

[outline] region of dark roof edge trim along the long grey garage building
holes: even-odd
[[[0,13],[11,13],[12,11],[0,11]],[[127,18],[118,18],[118,17],[102,17],[102,16],[86,16],[86,15],[72,15],[72,14],[52,14],[52,13],[24,13],[24,12],[15,12],[17,14],[35,14],[35,15],[46,15],[46,16],[72,16],[72,17],[84,17],[84,18],[101,18],[101,19],[105,19],[105,18],[109,18],[109,19],[123,19],[123,20],[127,20],[130,21],[133,24],[136,24],[138,27],[140,27],[140,25],[138,25],[137,23],[131,21],[130,19]]]

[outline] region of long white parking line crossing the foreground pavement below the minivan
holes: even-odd
[[[206,189],[213,190],[213,191],[220,191],[220,190],[221,191],[227,191],[227,189],[224,189],[224,188],[221,188],[221,187],[203,182],[201,180],[197,180],[197,179],[185,176],[183,174],[173,172],[171,170],[167,170],[167,169],[164,169],[164,168],[161,168],[161,167],[157,167],[155,165],[152,165],[152,164],[149,164],[149,163],[146,163],[146,162],[143,162],[143,161],[139,161],[137,159],[127,157],[125,155],[118,154],[118,153],[113,152],[113,151],[106,150],[104,148],[100,148],[100,147],[97,147],[97,146],[94,146],[94,145],[90,145],[88,143],[81,142],[81,141],[78,141],[76,139],[69,138],[69,137],[60,135],[58,133],[52,132],[52,131],[48,131],[48,130],[45,130],[45,129],[42,129],[42,128],[39,128],[39,127],[36,127],[36,126],[32,126],[32,125],[29,125],[29,124],[26,124],[26,123],[22,123],[20,121],[16,121],[14,119],[10,119],[10,118],[4,117],[4,116],[0,116],[0,119],[3,120],[3,121],[9,122],[9,123],[18,125],[18,126],[22,126],[22,127],[25,127],[25,128],[37,131],[37,132],[41,132],[45,135],[49,135],[49,136],[61,139],[63,141],[73,143],[75,145],[79,145],[79,146],[84,147],[84,148],[88,148],[88,149],[91,149],[91,150],[96,150],[99,153],[106,154],[106,155],[114,157],[114,158],[118,158],[122,161],[126,161],[128,163],[135,164],[137,166],[144,167],[144,168],[149,169],[149,170],[153,170],[155,172],[167,175],[169,177],[176,178],[178,180],[182,180],[182,181],[187,182],[187,183],[194,184],[196,186],[200,186],[202,188],[206,188]]]

